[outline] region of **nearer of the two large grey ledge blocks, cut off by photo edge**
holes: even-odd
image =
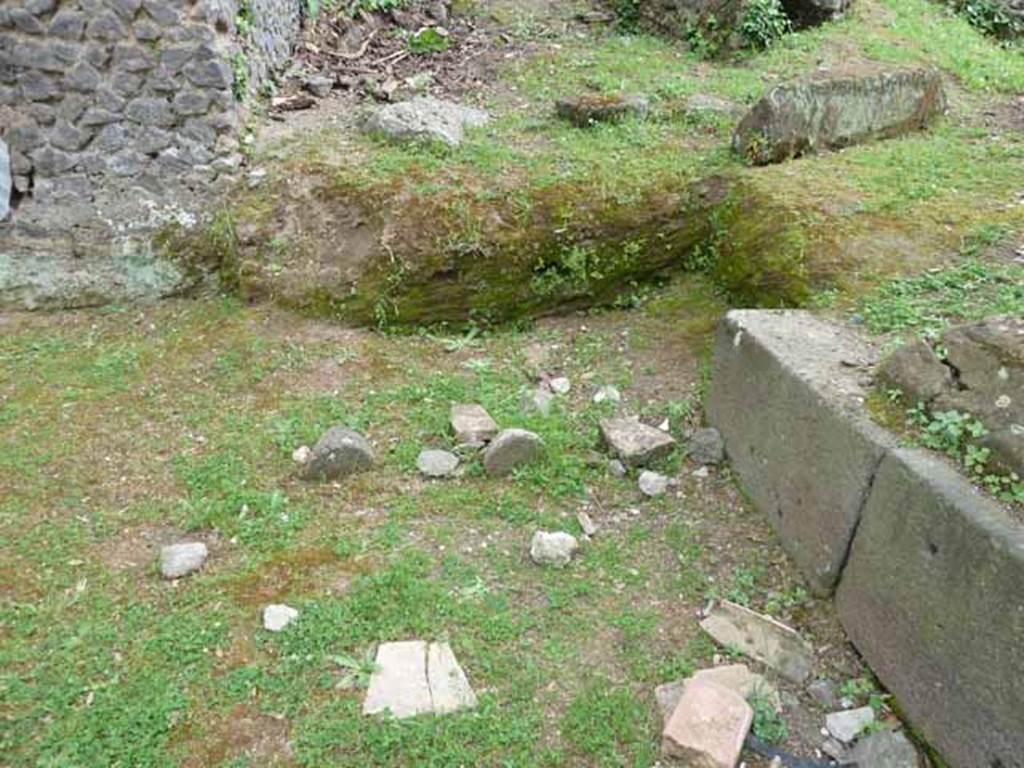
[[[895,451],[837,600],[854,645],[950,765],[1024,765],[1024,527],[944,462]]]

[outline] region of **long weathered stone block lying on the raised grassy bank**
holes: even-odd
[[[772,88],[733,136],[757,165],[927,127],[946,109],[936,70],[822,73]]]

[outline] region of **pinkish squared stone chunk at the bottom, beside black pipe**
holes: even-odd
[[[709,680],[693,680],[662,732],[662,754],[684,765],[735,768],[754,711],[737,693]]]

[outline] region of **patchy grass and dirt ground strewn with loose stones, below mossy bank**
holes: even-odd
[[[716,598],[792,623],[817,673],[866,701],[878,692],[830,607],[802,588],[727,467],[701,477],[677,453],[660,469],[678,487],[651,501],[598,451],[610,407],[591,397],[604,384],[622,389],[623,412],[668,418],[680,437],[699,422],[721,310],[691,280],[639,309],[461,337],[216,300],[132,323],[5,316],[11,764],[651,765],[654,686],[732,658],[697,626]],[[520,397],[541,373],[572,389],[551,416],[527,416]],[[454,401],[535,429],[546,459],[508,479],[471,460],[461,477],[424,481],[416,456],[450,444]],[[299,480],[292,451],[336,423],[369,435],[376,468],[336,485]],[[534,565],[532,532],[579,535],[579,510],[599,530],[572,565]],[[179,537],[212,554],[172,586],[155,559]],[[261,629],[270,602],[301,611],[282,635]],[[477,711],[359,715],[361,693],[343,682],[350,659],[411,637],[452,643]],[[813,756],[823,711],[772,679],[779,748]]]

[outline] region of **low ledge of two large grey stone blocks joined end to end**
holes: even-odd
[[[948,764],[1024,765],[1024,526],[869,421],[872,359],[810,313],[732,311],[709,416],[811,584],[839,583],[853,644]]]

